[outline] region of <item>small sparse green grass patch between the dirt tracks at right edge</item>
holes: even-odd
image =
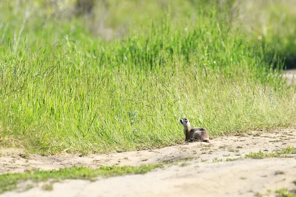
[[[271,157],[276,157],[276,158],[295,157],[293,154],[296,154],[296,148],[289,146],[283,150],[275,150],[275,151],[272,151],[271,153],[264,153],[261,151],[259,151],[258,153],[251,152],[250,154],[245,155],[245,158],[264,159],[264,158],[271,158]]]

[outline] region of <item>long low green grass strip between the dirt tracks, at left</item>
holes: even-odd
[[[27,173],[9,173],[0,175],[0,194],[6,191],[11,191],[17,188],[17,184],[32,180],[34,182],[45,182],[48,180],[64,180],[64,179],[87,179],[93,180],[93,178],[111,177],[111,176],[123,176],[126,174],[145,174],[148,171],[161,167],[164,164],[150,164],[134,166],[102,166],[98,169],[91,169],[89,167],[66,167],[59,170],[51,171],[34,171]],[[32,185],[31,187],[32,188]],[[52,190],[52,184],[44,184],[43,190]]]

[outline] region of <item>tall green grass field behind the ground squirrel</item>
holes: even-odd
[[[0,147],[105,153],[296,122],[292,0],[0,2]]]

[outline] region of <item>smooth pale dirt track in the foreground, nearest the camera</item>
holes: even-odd
[[[276,175],[277,170],[285,174]],[[34,188],[2,197],[254,197],[275,189],[296,188],[296,161],[290,159],[244,160],[171,166],[145,175],[67,180],[55,183],[51,192]],[[293,191],[292,191],[293,192]]]

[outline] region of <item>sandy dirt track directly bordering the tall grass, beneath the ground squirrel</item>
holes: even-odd
[[[132,151],[111,154],[90,154],[80,157],[78,154],[60,154],[53,156],[28,155],[22,150],[1,149],[0,174],[24,172],[32,169],[59,169],[61,167],[102,165],[156,164],[176,161],[184,158],[200,158],[212,161],[214,158],[239,158],[250,152],[271,151],[296,145],[296,129],[277,129],[270,132],[252,131],[237,136],[225,136],[206,142],[193,142],[186,145],[170,146],[147,151]],[[223,155],[229,155],[224,157]],[[23,158],[25,157],[25,158]]]

